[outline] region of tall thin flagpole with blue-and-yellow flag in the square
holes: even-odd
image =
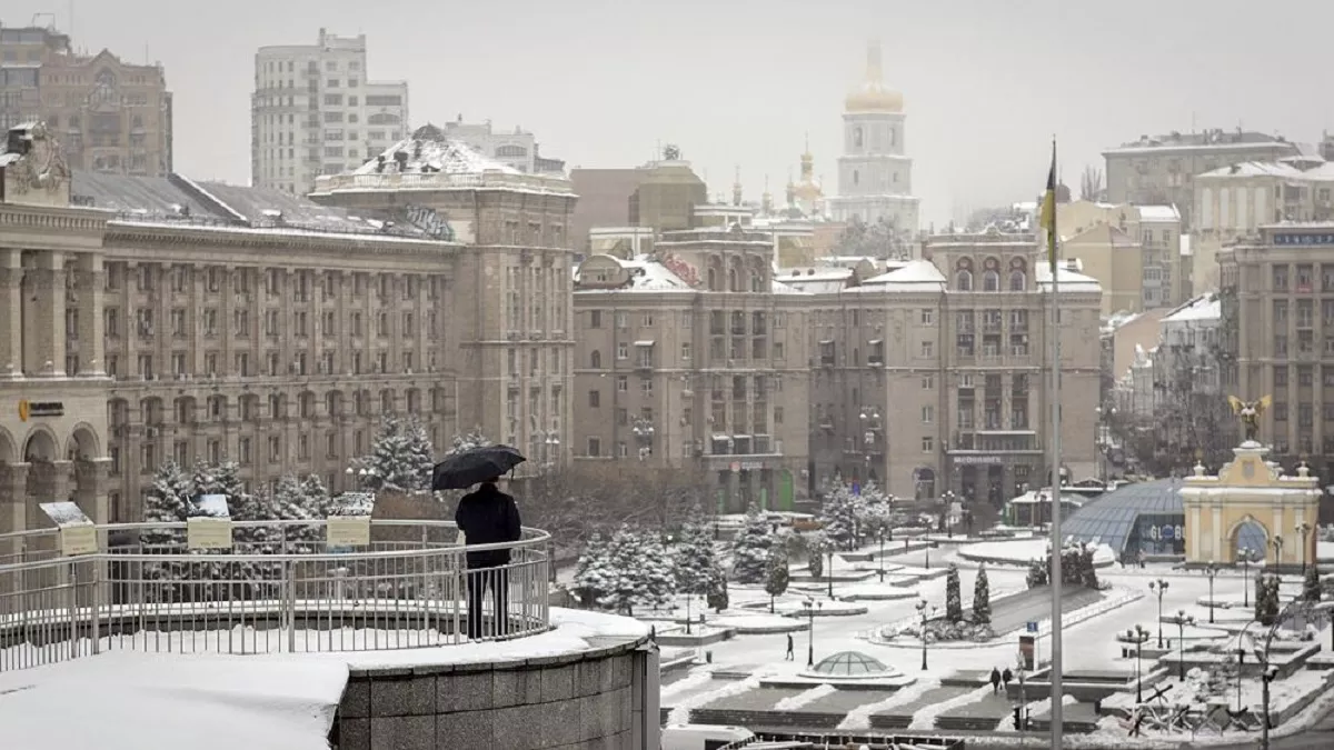
[[[1057,139],[1051,139],[1051,176],[1047,179],[1051,200],[1047,224],[1047,254],[1051,263],[1051,747],[1061,747],[1065,733],[1065,691],[1061,662],[1061,283],[1057,234]]]

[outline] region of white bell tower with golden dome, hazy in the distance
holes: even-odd
[[[828,199],[835,222],[891,222],[916,234],[919,199],[912,195],[912,159],[906,155],[903,95],[884,85],[880,45],[866,52],[866,80],[843,109],[843,156],[838,196]]]

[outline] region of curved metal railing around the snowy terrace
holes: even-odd
[[[0,534],[0,673],[116,649],[374,651],[550,629],[551,536],[534,528],[471,547],[444,520],[376,519],[356,548],[329,547],[324,520],[235,522],[231,550],[187,548],[185,523],[97,536],[63,556],[56,528]]]

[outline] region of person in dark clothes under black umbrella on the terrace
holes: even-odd
[[[458,490],[480,486],[459,500],[454,520],[468,547],[518,542],[523,535],[519,503],[500,491],[500,476],[524,462],[519,451],[508,446],[486,446],[451,455],[435,466],[431,487]],[[510,619],[506,602],[510,597],[510,550],[478,550],[464,554],[468,587],[468,638],[503,637]],[[492,631],[483,629],[482,610],[487,589],[495,601]]]

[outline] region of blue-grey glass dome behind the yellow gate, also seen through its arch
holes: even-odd
[[[1066,540],[1107,544],[1117,555],[1185,555],[1186,511],[1179,479],[1126,484],[1085,503],[1065,519]],[[1265,548],[1258,526],[1242,527],[1238,547]]]

